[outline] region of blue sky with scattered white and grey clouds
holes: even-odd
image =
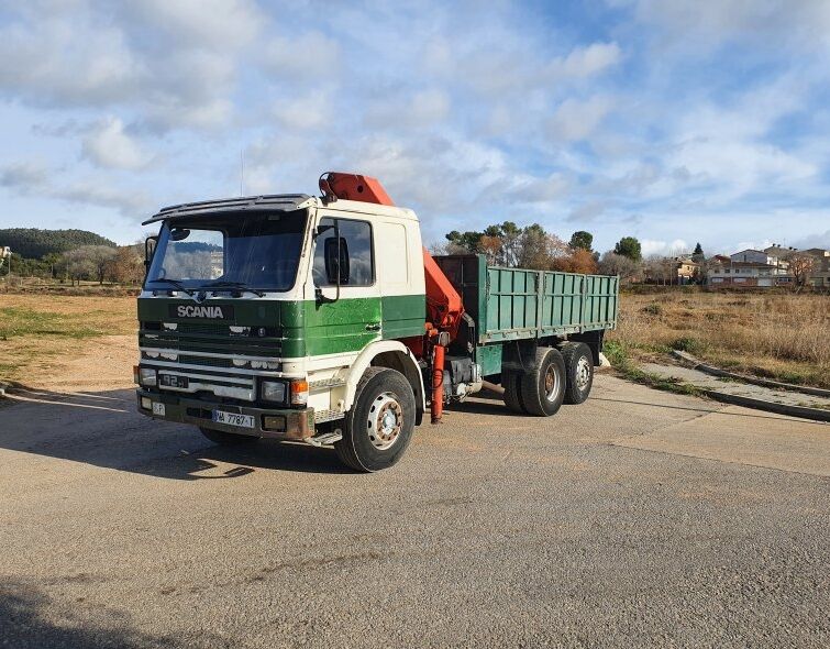
[[[427,243],[830,248],[830,2],[0,0],[0,228],[377,177]]]

